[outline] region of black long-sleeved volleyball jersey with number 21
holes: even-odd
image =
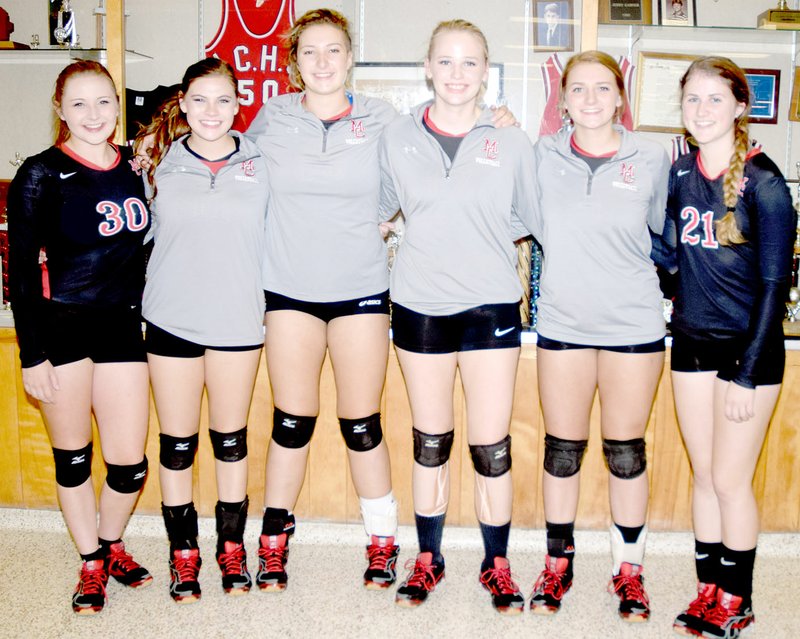
[[[661,240],[678,268],[672,327],[696,339],[744,338],[749,346],[734,381],[752,388],[765,340],[782,334],[797,214],[778,167],[751,152],[734,212],[747,241],[722,246],[714,223],[727,212],[724,178],[705,174],[698,151],[670,170]]]

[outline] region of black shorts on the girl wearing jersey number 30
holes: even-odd
[[[42,306],[44,351],[53,366],[82,359],[95,364],[146,362],[142,309],[47,301]]]

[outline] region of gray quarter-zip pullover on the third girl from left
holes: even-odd
[[[326,129],[302,97],[270,99],[247,131],[270,176],[262,284],[308,302],[381,293],[389,271],[378,229],[378,144],[397,112],[353,95],[350,115]]]

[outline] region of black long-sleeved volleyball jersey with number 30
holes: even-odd
[[[51,147],[28,158],[9,187],[9,284],[24,367],[47,359],[38,336],[43,300],[141,305],[150,213],[132,151],[118,152],[101,169]]]

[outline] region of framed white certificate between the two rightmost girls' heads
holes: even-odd
[[[639,53],[634,129],[683,133],[680,79],[696,58],[679,53]]]

